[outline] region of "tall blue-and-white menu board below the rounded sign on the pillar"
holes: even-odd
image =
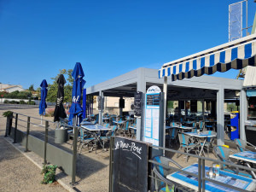
[[[160,93],[146,94],[144,141],[159,146]]]

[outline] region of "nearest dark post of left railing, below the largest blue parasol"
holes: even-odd
[[[77,143],[78,143],[78,127],[73,128],[73,169],[72,169],[72,184],[76,182],[77,172]]]

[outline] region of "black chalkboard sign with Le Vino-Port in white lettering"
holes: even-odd
[[[143,143],[126,137],[113,138],[113,192],[148,192],[148,148]]]

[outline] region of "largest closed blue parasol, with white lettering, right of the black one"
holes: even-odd
[[[68,124],[73,125],[73,118],[77,116],[79,118],[79,122],[82,121],[83,108],[81,107],[81,95],[82,89],[86,81],[84,78],[84,71],[81,63],[77,62],[75,67],[73,68],[73,90],[72,90],[72,105],[69,109],[69,119]],[[75,122],[77,125],[77,122]]]

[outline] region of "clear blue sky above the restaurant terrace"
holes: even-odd
[[[0,0],[0,82],[38,88],[77,61],[85,87],[137,67],[160,68],[227,43],[228,6],[236,2]],[[248,6],[251,26],[256,3]]]

